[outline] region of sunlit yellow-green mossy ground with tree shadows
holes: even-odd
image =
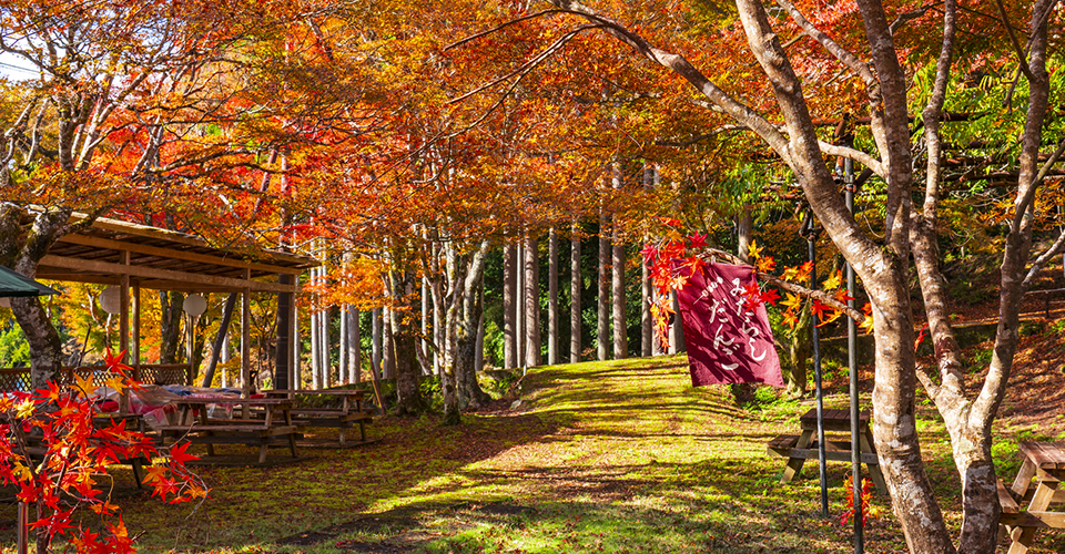
[[[829,407],[846,404],[842,389],[830,383]],[[780,484],[783,462],[765,452],[795,432],[809,401],[737,407],[723,387],[692,388],[683,357],[539,368],[520,394],[516,409],[465,414],[459,427],[381,418],[371,429],[381,441],[304,450],[311,459],[292,465],[201,468],[212,491],[200,505],[150,499],[116,469],[118,503],[141,552],[852,552],[839,519],[850,465],[829,464],[823,519],[816,464]],[[920,421],[956,526],[943,425],[926,406]],[[1016,471],[1021,434],[1004,430],[1003,475]],[[886,499],[873,502],[865,551],[904,551]],[[1043,536],[1030,552],[1065,551],[1065,536]],[[10,545],[11,530],[0,538]]]

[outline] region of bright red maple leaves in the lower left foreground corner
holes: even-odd
[[[108,383],[115,389],[136,388],[124,372],[129,368],[121,363],[123,355],[108,352],[105,360],[115,375]],[[79,553],[135,552],[119,506],[97,486],[94,476],[105,473],[109,463],[166,458],[165,463],[149,468],[144,482],[153,495],[171,503],[205,497],[207,490],[185,468],[195,459],[185,452],[187,443],[170,448],[165,456],[151,439],[126,429],[125,420],[94,422],[91,384],[79,378],[69,388],[49,383],[33,392],[0,397],[0,433],[7,439],[0,441],[0,482],[14,485],[20,502],[38,507],[38,519],[30,524],[38,541],[51,543],[65,536]],[[26,454],[29,435],[40,437],[43,454]],[[74,512],[87,505],[103,517],[103,532],[83,527],[81,517],[75,517]]]

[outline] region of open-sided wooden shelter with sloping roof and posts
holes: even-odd
[[[284,371],[288,388],[295,388],[293,294],[298,291],[300,274],[317,265],[314,258],[280,250],[219,248],[184,233],[99,218],[60,238],[41,259],[36,277],[118,286],[120,348],[129,352],[140,352],[141,289],[240,294],[241,375],[246,394],[251,388],[251,294],[273,293],[278,297],[278,312],[286,316],[280,319],[287,325],[277,330],[276,371]],[[175,382],[176,371],[185,373],[180,381],[191,384],[196,371],[191,363],[141,363],[139,355],[128,357],[126,363],[145,381]]]

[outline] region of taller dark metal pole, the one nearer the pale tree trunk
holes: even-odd
[[[843,161],[843,187],[846,208],[854,213],[854,161]],[[854,296],[854,268],[846,264],[846,294]],[[854,309],[854,299],[846,301]],[[854,554],[865,552],[862,525],[862,451],[858,409],[858,324],[846,318],[846,365],[851,373],[851,497],[854,499]]]

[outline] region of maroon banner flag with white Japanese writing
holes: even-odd
[[[748,301],[757,290],[747,266],[700,264],[678,291],[691,384],[763,382],[783,387],[765,306]]]

